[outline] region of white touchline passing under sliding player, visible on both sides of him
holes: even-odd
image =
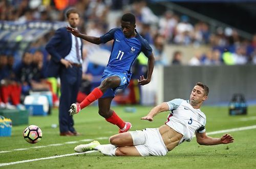
[[[226,132],[232,132],[232,131],[242,131],[242,130],[250,130],[250,129],[256,129],[256,125],[253,126],[247,126],[247,127],[239,127],[239,128],[234,128],[234,129],[227,129],[227,130],[219,130],[219,131],[214,131],[214,132],[209,132],[207,135],[210,134],[219,134],[219,133],[226,133]],[[104,137],[100,137],[104,138]],[[93,151],[88,151],[84,153],[92,153],[92,152],[97,152],[95,150]],[[13,164],[19,164],[19,163],[25,163],[25,162],[32,162],[32,161],[39,161],[39,160],[47,160],[47,159],[53,159],[53,158],[60,158],[60,157],[66,157],[66,156],[73,156],[76,154],[84,154],[84,153],[73,153],[73,154],[63,154],[59,156],[51,156],[51,157],[44,157],[44,158],[36,158],[36,159],[31,159],[31,160],[23,160],[23,161],[15,161],[15,162],[9,162],[9,163],[0,163],[0,166],[6,166],[6,165],[13,165]]]

